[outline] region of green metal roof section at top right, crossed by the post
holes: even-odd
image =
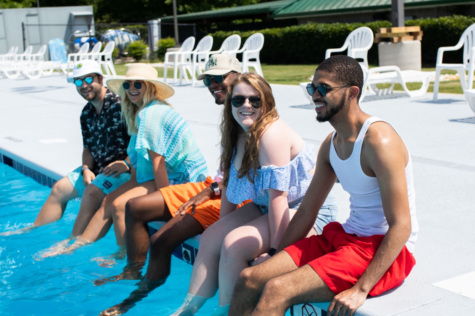
[[[404,7],[454,5],[473,0],[404,0]],[[294,0],[277,9],[271,18],[288,19],[303,16],[319,16],[330,13],[391,9],[391,0]]]

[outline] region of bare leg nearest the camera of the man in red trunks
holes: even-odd
[[[254,316],[285,315],[289,307],[305,302],[328,302],[335,294],[309,265],[266,283]]]

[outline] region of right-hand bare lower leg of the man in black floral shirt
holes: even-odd
[[[105,193],[95,185],[86,186],[73,226],[73,236],[81,236],[104,200]]]

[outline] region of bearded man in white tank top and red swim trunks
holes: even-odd
[[[416,263],[411,158],[389,123],[361,111],[362,85],[361,66],[348,56],[315,71],[307,90],[317,121],[335,129],[320,147],[319,177],[276,254],[241,272],[228,315],[284,315],[295,304],[331,301],[329,315],[352,316],[368,295],[399,286]],[[350,217],[304,238],[337,177],[350,193]]]

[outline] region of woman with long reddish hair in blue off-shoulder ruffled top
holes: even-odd
[[[174,316],[196,313],[218,287],[217,315],[227,315],[239,273],[273,255],[314,173],[313,145],[279,118],[272,90],[257,74],[229,85],[220,128],[221,213],[201,236],[187,297]],[[329,195],[309,235],[335,220],[335,204]]]

